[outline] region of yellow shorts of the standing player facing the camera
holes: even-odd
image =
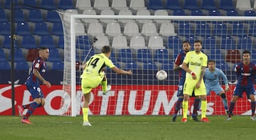
[[[196,88],[197,80],[191,81],[191,80],[185,80],[184,87],[183,87],[183,95],[192,95],[193,91],[195,93],[195,96],[200,95],[206,95],[206,85],[204,82],[201,82],[201,85],[199,88]]]

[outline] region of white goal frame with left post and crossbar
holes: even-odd
[[[65,28],[63,28],[64,31],[64,38],[70,37],[70,55],[71,55],[71,85],[70,85],[70,92],[71,92],[71,117],[75,117],[77,114],[77,100],[76,100],[76,69],[75,69],[75,20],[76,19],[153,19],[153,20],[177,20],[177,21],[255,21],[254,16],[100,16],[100,15],[84,15],[84,14],[65,14],[63,12],[58,11],[58,13],[63,14],[64,16],[70,16],[70,36],[66,36],[65,34]],[[63,20],[63,19],[62,19]],[[64,25],[63,25],[64,27]],[[64,55],[65,58],[65,55]],[[64,59],[65,60],[65,59]],[[65,67],[68,67],[67,65],[64,65],[64,71],[63,76],[67,75],[67,71],[65,71]],[[65,83],[63,83],[64,87]]]

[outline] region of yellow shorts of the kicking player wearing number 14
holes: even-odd
[[[103,80],[103,77],[102,76],[95,76],[95,77],[84,77],[84,78],[82,78],[82,81],[81,81],[82,93],[83,94],[90,93],[92,88],[95,88],[98,85],[100,85],[100,83]]]

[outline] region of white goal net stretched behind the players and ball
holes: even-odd
[[[90,114],[94,115],[172,115],[178,98],[174,59],[181,52],[183,41],[189,41],[192,49],[193,41],[203,41],[208,60],[215,60],[217,68],[228,77],[228,104],[236,81],[233,68],[241,61],[242,50],[250,50],[252,61],[256,59],[253,17],[59,14],[65,38],[61,115],[82,114],[80,65],[100,53],[104,45],[112,47],[110,59],[114,65],[132,70],[133,75],[117,75],[106,69],[112,90],[107,95],[102,95],[101,86],[92,90]],[[166,80],[156,79],[158,70],[168,73]],[[223,80],[220,82],[224,86]],[[208,96],[207,114],[225,114],[222,99],[214,92]],[[238,100],[234,114],[250,114],[250,101],[245,96]]]

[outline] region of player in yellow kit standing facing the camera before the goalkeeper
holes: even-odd
[[[186,80],[183,87],[183,119],[182,122],[187,122],[188,112],[188,99],[194,91],[195,96],[201,98],[201,121],[209,122],[206,117],[207,99],[206,99],[206,85],[203,82],[203,76],[207,66],[207,55],[201,52],[201,41],[194,42],[194,50],[186,54],[186,58],[183,60],[182,68],[186,70]]]

